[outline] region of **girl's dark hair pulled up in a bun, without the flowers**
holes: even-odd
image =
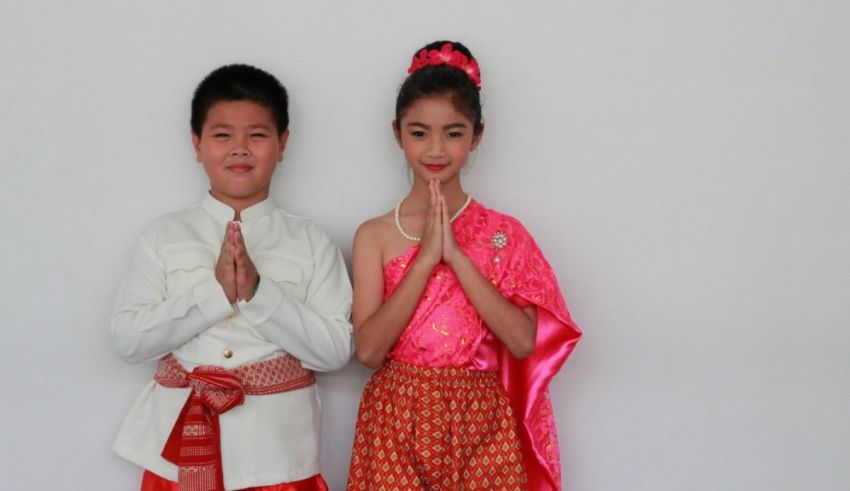
[[[457,41],[434,41],[416,50],[414,56],[423,49],[440,50],[446,43],[451,44],[454,51],[463,53],[469,61],[474,60],[469,49]],[[473,131],[481,132],[484,126],[481,121],[481,98],[478,88],[466,72],[448,65],[426,66],[411,73],[404,80],[395,102],[396,125],[401,124],[402,114],[417,99],[435,96],[449,97],[455,109],[472,121]]]

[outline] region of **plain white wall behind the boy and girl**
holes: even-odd
[[[536,235],[586,332],[552,387],[566,488],[847,489],[848,25],[844,0],[2,0],[2,488],[137,489],[110,446],[153,365],[108,319],[144,226],[205,191],[200,78],[289,87],[274,192],[348,257],[407,187],[410,55],[448,37],[483,68],[466,187]],[[334,490],[367,376],[320,377]]]

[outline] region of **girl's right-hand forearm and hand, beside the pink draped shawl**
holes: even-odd
[[[493,334],[518,360],[527,358],[537,341],[537,311],[521,309],[502,296],[455,244],[445,198],[440,196],[443,224],[443,262],[455,276]]]

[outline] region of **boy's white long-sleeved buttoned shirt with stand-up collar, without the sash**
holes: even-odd
[[[209,194],[144,232],[112,314],[118,354],[135,363],[173,353],[198,365],[234,368],[290,353],[311,370],[344,366],[353,351],[351,283],[336,245],[312,221],[270,199],[241,213],[248,255],[260,274],[250,302],[230,304],[215,278],[234,210]],[[151,381],[113,449],[172,481],[160,455],[190,389]],[[315,384],[247,396],[220,416],[227,489],[297,481],[319,473],[320,402]]]

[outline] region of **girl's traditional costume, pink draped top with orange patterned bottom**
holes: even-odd
[[[514,359],[454,272],[434,267],[415,312],[366,386],[349,490],[559,490],[548,385],[578,342],[552,268],[516,219],[476,201],[452,223],[458,247],[511,302],[537,311],[537,341]],[[384,300],[419,252],[384,268]]]

